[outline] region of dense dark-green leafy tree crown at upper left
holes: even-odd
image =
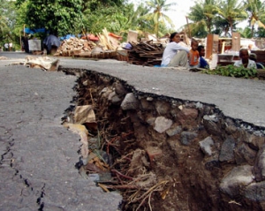
[[[30,28],[45,27],[51,34],[74,34],[82,25],[82,0],[19,0],[27,4],[25,24]]]

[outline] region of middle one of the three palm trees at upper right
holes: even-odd
[[[216,5],[215,10],[217,16],[225,20],[230,27],[231,33],[233,32],[233,26],[247,18],[246,6],[238,0],[221,0]],[[226,34],[225,34],[226,35]]]

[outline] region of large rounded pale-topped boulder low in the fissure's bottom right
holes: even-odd
[[[220,190],[226,192],[231,197],[240,195],[240,192],[245,190],[246,186],[254,181],[252,170],[253,166],[250,165],[233,168],[226,177],[223,177]]]

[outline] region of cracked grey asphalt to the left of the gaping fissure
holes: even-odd
[[[74,168],[79,136],[61,117],[76,77],[6,63],[0,61],[0,210],[117,210],[117,192],[102,192]]]

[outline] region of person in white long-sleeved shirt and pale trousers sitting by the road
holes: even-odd
[[[180,34],[170,34],[170,43],[163,50],[162,67],[184,66],[188,67],[187,53],[190,49],[179,44]]]

